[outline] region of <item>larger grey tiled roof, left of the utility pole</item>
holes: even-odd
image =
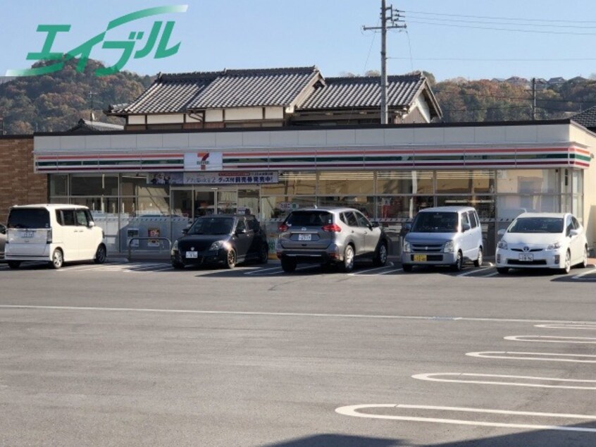
[[[111,114],[182,113],[196,109],[288,106],[319,77],[316,67],[263,68],[159,75],[130,104]]]

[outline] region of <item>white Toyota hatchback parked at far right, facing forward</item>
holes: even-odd
[[[511,223],[497,244],[497,271],[558,269],[588,264],[588,242],[583,226],[569,213],[523,213]]]

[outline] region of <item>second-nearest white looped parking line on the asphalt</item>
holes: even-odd
[[[460,379],[443,379],[445,376],[456,376]],[[491,381],[491,380],[466,380],[466,377],[494,378],[494,379],[523,379],[528,381],[550,381],[571,384],[593,384],[593,386],[572,386],[572,385],[548,385],[540,383],[516,382],[516,381]],[[483,385],[504,385],[504,386],[530,386],[531,388],[562,388],[568,390],[596,390],[596,380],[580,379],[558,379],[557,377],[534,377],[534,376],[507,376],[501,374],[468,374],[464,372],[440,372],[430,374],[414,374],[413,379],[451,382],[455,384],[483,384]]]

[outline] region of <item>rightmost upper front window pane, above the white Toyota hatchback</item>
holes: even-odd
[[[497,171],[497,192],[506,194],[557,194],[559,193],[558,171],[558,169],[506,169]],[[564,191],[561,188],[561,192]]]

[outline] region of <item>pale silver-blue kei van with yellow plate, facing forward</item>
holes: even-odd
[[[476,267],[483,262],[480,219],[472,207],[422,209],[406,233],[402,245],[402,267],[447,265],[460,271],[465,261]]]

